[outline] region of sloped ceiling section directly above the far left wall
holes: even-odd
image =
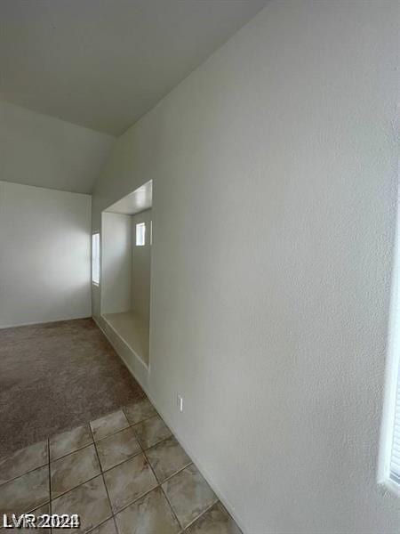
[[[115,138],[0,101],[0,177],[91,193]]]

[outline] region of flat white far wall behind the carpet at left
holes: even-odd
[[[0,182],[0,328],[91,315],[91,200]]]

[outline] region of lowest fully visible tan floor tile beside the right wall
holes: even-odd
[[[196,465],[172,476],[163,489],[183,528],[218,500]]]

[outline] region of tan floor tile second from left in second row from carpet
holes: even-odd
[[[100,473],[94,445],[76,450],[50,464],[52,476],[52,498],[72,490]]]

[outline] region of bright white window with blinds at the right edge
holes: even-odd
[[[379,481],[400,496],[400,239],[397,223],[393,269],[386,392],[382,419]]]

